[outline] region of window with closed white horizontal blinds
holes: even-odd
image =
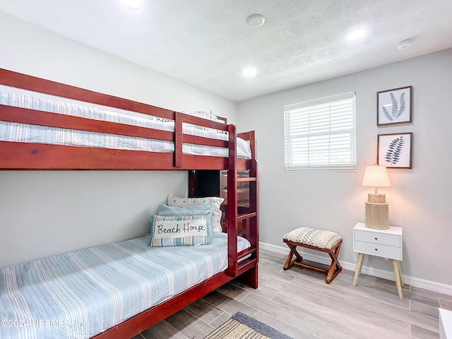
[[[285,105],[285,170],[355,170],[355,136],[354,92]]]

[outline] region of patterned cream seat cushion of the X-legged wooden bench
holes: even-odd
[[[284,234],[283,239],[319,247],[320,249],[331,249],[343,238],[336,232],[311,227],[299,227]]]

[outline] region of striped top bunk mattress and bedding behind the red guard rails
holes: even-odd
[[[110,121],[150,129],[160,129],[162,131],[174,131],[174,121],[169,119],[153,116],[136,117],[130,114],[110,112],[106,109],[79,105],[78,103],[49,100],[36,95],[6,93],[4,92],[4,88],[1,88],[1,90],[0,105],[37,109],[44,112]],[[223,141],[228,140],[226,133],[220,133],[220,131],[215,129],[200,128],[200,126],[190,124],[183,125],[183,133]],[[0,141],[112,148],[118,150],[143,150],[160,153],[174,152],[174,142],[172,141],[81,131],[76,129],[63,129],[35,124],[22,124],[11,121],[0,121]],[[227,157],[229,150],[227,148],[210,145],[184,143],[182,145],[182,153]],[[251,148],[249,143],[242,138],[237,138],[237,157],[251,159]]]

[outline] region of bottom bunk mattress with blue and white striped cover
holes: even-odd
[[[0,338],[90,338],[227,268],[227,234],[202,246],[149,237],[0,270]],[[239,237],[238,251],[250,246]]]

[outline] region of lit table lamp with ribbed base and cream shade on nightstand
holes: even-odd
[[[367,195],[366,227],[385,230],[388,228],[388,204],[386,196],[379,194],[379,187],[391,186],[386,166],[367,166],[362,186],[374,187],[374,193]]]

